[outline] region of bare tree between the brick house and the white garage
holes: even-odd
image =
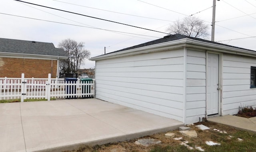
[[[73,39],[62,40],[58,47],[63,48],[68,54],[66,61],[60,61],[61,69],[67,73],[76,73],[84,59],[88,59],[91,54],[89,50],[84,49],[84,42],[77,43]]]

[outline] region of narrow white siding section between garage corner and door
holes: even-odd
[[[187,50],[185,123],[198,122],[205,117],[206,52]]]

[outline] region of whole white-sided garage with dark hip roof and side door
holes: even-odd
[[[256,51],[179,34],[92,57],[96,98],[185,124],[256,106]]]

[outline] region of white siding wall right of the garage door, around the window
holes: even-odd
[[[256,106],[256,89],[250,89],[250,67],[256,58],[224,54],[223,56],[223,115],[237,114],[239,106]]]

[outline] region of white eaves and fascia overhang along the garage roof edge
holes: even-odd
[[[138,47],[134,49],[128,49],[124,51],[117,51],[114,53],[108,53],[105,55],[92,57],[89,60],[98,61],[98,60],[111,59],[116,57],[133,56],[133,55],[140,55],[140,54],[159,52],[159,51],[168,51],[168,50],[174,50],[182,47],[256,57],[256,51],[253,51],[253,50],[242,49],[239,47],[232,47],[228,45],[221,45],[217,43],[208,43],[205,41],[198,41],[190,38],[183,38],[183,39]]]

